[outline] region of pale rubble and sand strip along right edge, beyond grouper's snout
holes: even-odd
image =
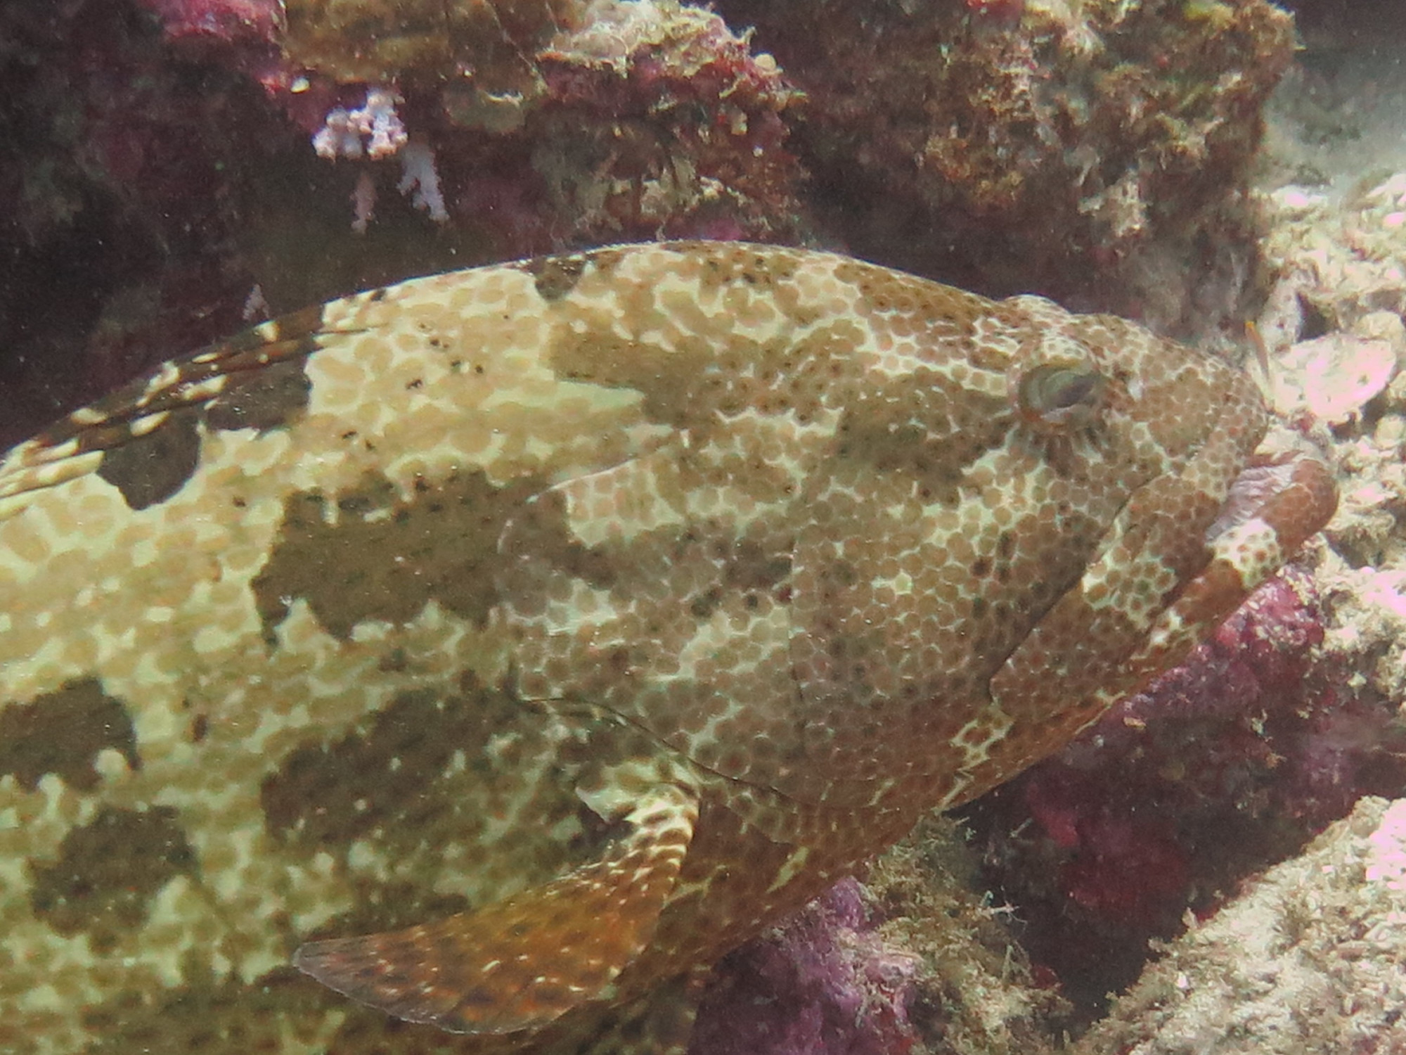
[[[1331,544],[1316,571],[1329,609],[1324,648],[1355,693],[1400,709],[1406,72],[1398,59],[1406,24],[1374,18],[1378,4],[1310,7],[1322,15],[1312,24],[1320,48],[1270,110],[1270,190],[1261,196],[1268,295],[1257,325],[1277,409],[1331,452],[1341,481]]]

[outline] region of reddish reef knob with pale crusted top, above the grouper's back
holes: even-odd
[[[516,231],[538,225],[533,249],[794,238],[800,167],[782,114],[797,96],[770,56],[754,55],[716,14],[666,0],[602,3],[592,14],[538,55],[547,100],[516,139],[485,156],[485,143],[446,136],[441,153],[464,166],[465,207],[502,203],[505,180],[522,188],[529,174]],[[451,125],[481,120],[453,100],[446,107]]]

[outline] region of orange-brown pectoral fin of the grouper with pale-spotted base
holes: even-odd
[[[294,964],[412,1023],[478,1034],[537,1028],[598,997],[650,942],[696,820],[692,791],[652,788],[599,861],[439,923],[309,941]]]

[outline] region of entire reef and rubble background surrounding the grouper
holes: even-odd
[[[0,449],[308,304],[664,238],[1263,357],[1324,533],[731,954],[690,1051],[1406,1051],[1403,55],[1396,0],[11,0]]]

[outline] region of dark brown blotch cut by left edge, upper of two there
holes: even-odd
[[[98,784],[93,760],[108,747],[134,769],[141,765],[127,708],[94,678],[0,709],[0,774],[13,774],[30,791],[46,772],[91,791]]]

